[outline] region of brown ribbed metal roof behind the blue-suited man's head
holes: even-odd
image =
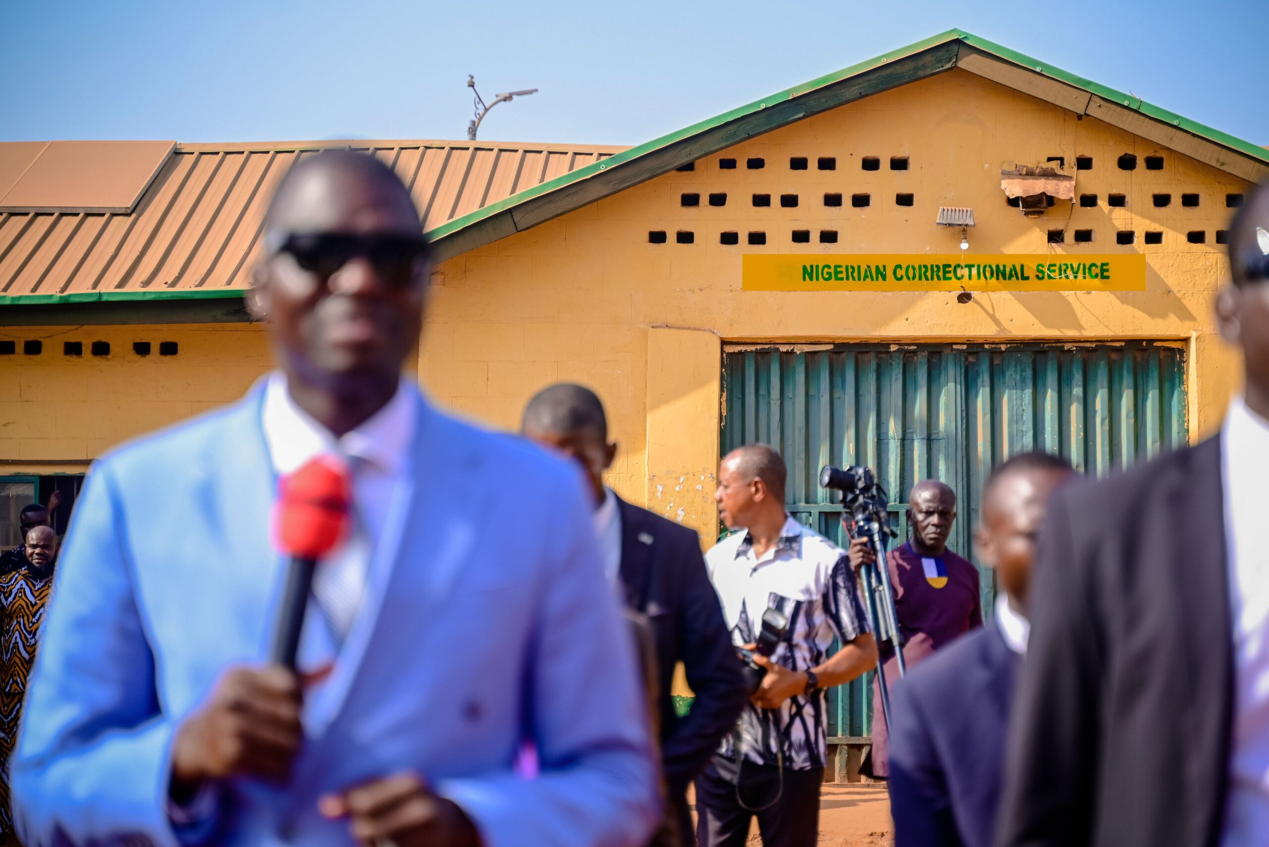
[[[0,295],[246,288],[274,185],[322,147],[373,151],[391,165],[410,186],[425,231],[624,150],[447,141],[178,145],[131,213],[0,210]],[[0,165],[38,153],[6,148],[0,143]],[[0,176],[11,170],[0,167]]]

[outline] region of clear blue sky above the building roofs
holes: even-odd
[[[952,28],[1269,145],[1269,0],[0,0],[0,141],[634,145]]]

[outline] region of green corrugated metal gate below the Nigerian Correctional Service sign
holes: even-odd
[[[877,472],[900,543],[912,484],[947,482],[959,512],[949,546],[972,560],[982,482],[1008,456],[1056,451],[1101,475],[1187,441],[1179,345],[808,346],[725,351],[722,451],[779,450],[789,512],[839,543],[840,507],[817,481],[825,464]],[[981,577],[990,610],[995,581]],[[864,681],[831,692],[830,735],[868,734],[864,692]]]

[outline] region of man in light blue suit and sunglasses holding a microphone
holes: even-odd
[[[428,275],[409,191],[324,152],[283,179],[264,245],[250,306],[278,372],[103,458],[76,507],[11,771],[23,842],[642,842],[647,715],[579,475],[400,377]],[[322,455],[354,529],[297,675],[266,662],[269,512]]]

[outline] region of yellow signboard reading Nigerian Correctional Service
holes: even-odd
[[[1146,257],[746,255],[746,292],[1143,292]]]

